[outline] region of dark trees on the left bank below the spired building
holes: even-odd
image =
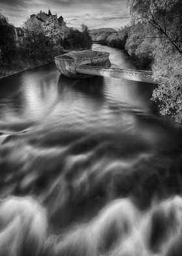
[[[66,25],[58,24],[55,17],[45,23],[32,17],[27,19],[23,29],[26,36],[16,41],[15,27],[0,13],[0,76],[53,61],[62,52],[63,41],[65,48],[92,46],[88,27],[84,24],[82,31],[71,29],[68,35]]]

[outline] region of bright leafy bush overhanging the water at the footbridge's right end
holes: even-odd
[[[181,123],[182,120],[182,56],[169,47],[167,42],[155,50],[153,76],[159,80],[152,100],[159,102],[161,114],[170,115]]]

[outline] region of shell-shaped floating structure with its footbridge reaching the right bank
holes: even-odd
[[[125,78],[138,82],[157,84],[151,71],[138,71],[135,69],[122,69],[110,63],[108,52],[83,50],[69,52],[55,57],[57,69],[70,78],[88,78],[91,76],[110,76]]]

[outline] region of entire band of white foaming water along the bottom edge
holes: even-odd
[[[114,200],[91,221],[53,236],[38,202],[8,197],[0,223],[0,255],[180,255],[182,198],[155,202],[145,212],[129,199]]]

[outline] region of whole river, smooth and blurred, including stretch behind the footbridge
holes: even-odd
[[[181,255],[181,128],[153,88],[54,64],[0,80],[0,255]]]

